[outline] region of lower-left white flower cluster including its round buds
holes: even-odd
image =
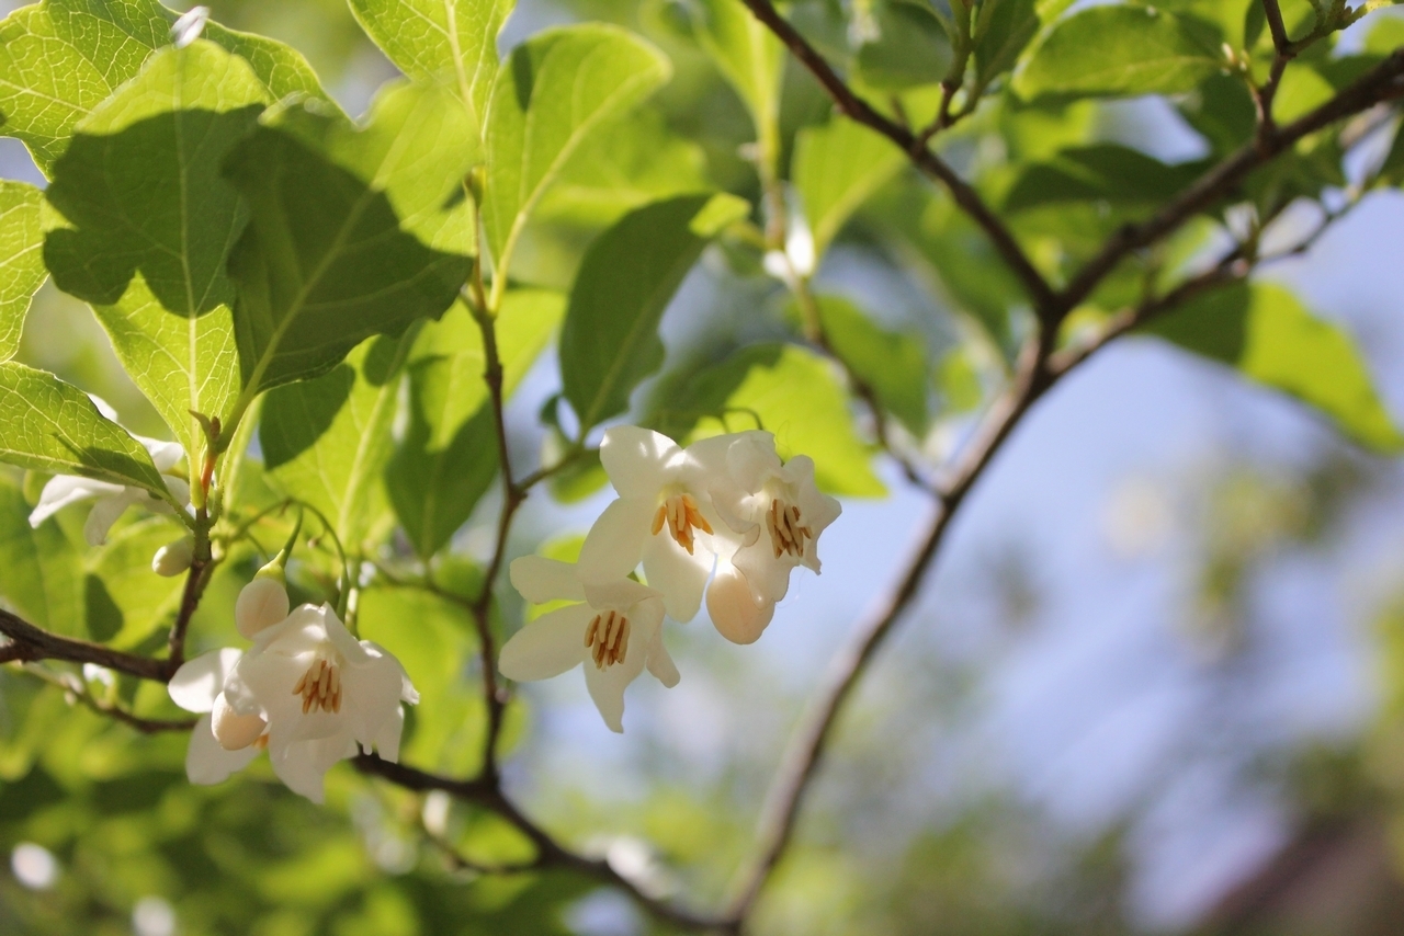
[[[420,700],[400,661],[352,637],[330,605],[288,605],[277,577],[254,578],[234,605],[253,647],[204,654],[171,678],[176,704],[201,716],[185,755],[191,783],[220,783],[267,749],[278,779],[322,803],[337,761],[372,748],[399,759],[400,703]]]

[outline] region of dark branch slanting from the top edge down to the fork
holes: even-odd
[[[834,100],[834,104],[838,105],[840,111],[858,123],[890,139],[911,157],[917,168],[945,185],[946,191],[951,192],[951,198],[984,230],[994,248],[1004,257],[1009,269],[1014,271],[1014,275],[1024,285],[1025,292],[1029,293],[1029,299],[1040,316],[1046,310],[1054,309],[1053,288],[1049,286],[1043,275],[1033,267],[1033,262],[1024,253],[1024,248],[1019,247],[1009,229],[990,210],[990,206],[984,203],[984,199],[980,198],[980,194],[972,185],[960,178],[953,168],[946,166],[939,156],[924,146],[920,138],[910,129],[882,115],[868,101],[854,94],[852,88],[824,60],[824,56],[775,10],[771,0],[741,1],[819,79],[819,83],[824,86],[824,90]]]

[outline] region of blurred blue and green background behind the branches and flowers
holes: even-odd
[[[351,114],[395,74],[341,0],[209,6],[300,49]],[[668,52],[677,77],[649,108],[696,140],[687,159],[699,178],[754,196],[737,154],[746,112],[677,4],[519,0],[503,48],[578,18],[626,24]],[[827,109],[804,76],[789,79],[793,131]],[[1098,105],[1084,139],[1167,161],[1203,153],[1155,100]],[[8,139],[0,174],[42,184]],[[901,177],[879,194],[819,282],[920,335],[934,361],[974,362],[973,399],[946,386],[920,443],[939,457],[993,377],[927,288],[929,271],[885,248],[876,216],[900,213],[918,188]],[[1310,222],[1287,212],[1279,234]],[[532,232],[528,278],[567,285],[597,230],[562,205]],[[1401,244],[1404,195],[1380,191],[1265,274],[1358,338],[1397,418]],[[782,299],[713,248],[664,320],[670,369],[783,327]],[[52,285],[21,359],[160,434],[91,313]],[[518,463],[539,457],[536,413],[556,387],[545,355],[511,406]],[[754,647],[724,643],[703,619],[675,627],[684,681],[636,683],[625,735],[605,728],[578,678],[525,686],[508,787],[528,810],[658,894],[717,900],[804,699],[931,509],[896,466],[876,464],[889,495],[844,502],[823,577],[796,581]],[[490,546],[487,501],[458,537],[468,557]],[[534,498],[512,553],[583,533],[605,502]],[[327,810],[258,775],[190,787],[184,738],[45,721],[39,707],[62,699],[21,683],[0,674],[3,932],[653,932],[590,881],[475,880],[414,834],[423,821],[490,848],[503,831],[487,817],[345,766]],[[1404,466],[1226,368],[1153,338],[1119,341],[1038,406],[979,484],[813,793],[760,933],[1404,932]]]

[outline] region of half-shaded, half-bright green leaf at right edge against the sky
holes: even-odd
[[[1369,449],[1404,450],[1355,341],[1282,286],[1209,293],[1146,331],[1313,406]]]

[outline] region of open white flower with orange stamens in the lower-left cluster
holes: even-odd
[[[258,581],[249,588],[254,585],[267,588]],[[246,608],[267,612],[271,603],[264,598]],[[268,756],[288,787],[320,803],[323,775],[358,745],[399,759],[400,702],[414,704],[420,696],[389,651],[357,641],[330,605],[302,605],[257,630],[253,643],[230,669],[223,695],[233,714],[268,724]]]

